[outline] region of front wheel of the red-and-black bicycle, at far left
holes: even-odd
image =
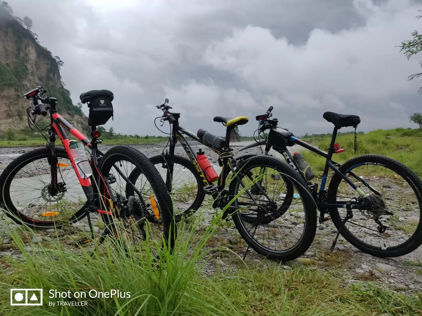
[[[86,214],[87,198],[63,147],[56,147],[59,191],[51,192],[48,154],[47,147],[24,153],[0,176],[1,207],[18,224],[58,228],[76,222]]]

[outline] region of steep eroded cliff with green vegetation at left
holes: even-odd
[[[38,81],[47,89],[45,96],[58,99],[59,113],[77,129],[83,129],[87,118],[63,87],[56,59],[32,34],[0,8],[0,130],[27,127],[29,101],[22,95]]]

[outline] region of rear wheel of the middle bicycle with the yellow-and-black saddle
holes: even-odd
[[[230,197],[238,195],[232,204],[233,211],[237,210],[232,218],[242,238],[256,252],[272,260],[300,257],[311,246],[317,229],[316,204],[305,180],[287,163],[270,156],[252,157],[239,169],[238,177],[230,182]],[[255,176],[259,174],[262,190],[254,187],[260,178]],[[256,203],[241,181],[251,187],[247,191]],[[296,195],[284,204],[290,185]]]

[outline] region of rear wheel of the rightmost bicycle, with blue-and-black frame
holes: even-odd
[[[422,244],[422,181],[417,174],[403,163],[379,155],[352,158],[339,170],[371,201],[364,209],[352,209],[352,219],[341,229],[349,243],[376,257],[403,256]],[[359,198],[353,187],[334,174],[328,188],[328,203],[355,204]],[[339,229],[346,209],[329,211]]]

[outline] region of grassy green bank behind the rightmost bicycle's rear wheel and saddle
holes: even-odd
[[[312,145],[327,151],[330,138],[305,139]],[[341,135],[336,142],[346,151],[333,155],[338,163],[357,156],[376,154],[398,160],[422,176],[422,130],[397,128],[392,130],[376,130],[368,134],[357,135],[357,152],[354,153],[354,135]],[[317,175],[322,175],[325,159],[311,151],[305,150],[303,155]]]

